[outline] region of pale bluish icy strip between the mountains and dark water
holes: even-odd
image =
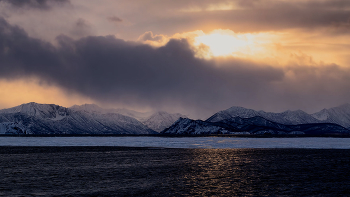
[[[0,146],[128,146],[164,148],[350,149],[350,138],[0,137]]]

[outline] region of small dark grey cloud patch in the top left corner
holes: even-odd
[[[0,0],[0,2],[11,4],[17,8],[29,7],[45,10],[51,8],[52,4],[70,3],[70,0]]]

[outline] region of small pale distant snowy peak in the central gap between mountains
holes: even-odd
[[[186,118],[186,116],[179,113],[169,114],[167,112],[160,111],[152,114],[145,121],[142,121],[142,123],[148,126],[148,128],[161,132],[170,127],[179,118]]]

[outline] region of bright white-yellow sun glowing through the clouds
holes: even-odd
[[[195,38],[195,46],[204,44],[210,48],[212,56],[237,56],[251,53],[254,48],[254,36],[234,34],[232,31],[216,31]]]

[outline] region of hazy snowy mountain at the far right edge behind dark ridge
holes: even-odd
[[[350,128],[350,104],[340,105],[330,109],[323,109],[312,116],[322,122],[339,124]]]

